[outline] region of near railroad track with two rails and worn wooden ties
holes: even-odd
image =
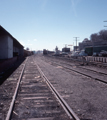
[[[5,120],[80,120],[33,57],[23,65],[12,98]]]

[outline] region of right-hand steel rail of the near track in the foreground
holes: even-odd
[[[56,98],[58,99],[58,101],[60,102],[60,104],[64,108],[65,112],[70,117],[70,119],[73,118],[74,120],[80,120],[78,118],[78,116],[74,113],[74,111],[66,103],[66,101],[61,97],[61,95],[58,93],[58,91],[53,87],[53,85],[50,83],[50,81],[48,80],[48,78],[44,75],[44,73],[42,72],[42,70],[40,69],[40,67],[37,65],[37,63],[35,61],[34,61],[34,63],[37,66],[37,68],[38,68],[38,70],[39,70],[42,78],[46,81],[47,85],[49,86],[49,88],[51,89],[51,91],[54,93],[54,95],[56,96]]]

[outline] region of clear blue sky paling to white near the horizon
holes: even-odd
[[[0,25],[26,49],[71,49],[107,29],[107,0],[0,0]]]

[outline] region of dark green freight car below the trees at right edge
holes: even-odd
[[[85,48],[85,53],[92,56],[93,53],[99,54],[102,50],[107,51],[107,46],[90,46]]]

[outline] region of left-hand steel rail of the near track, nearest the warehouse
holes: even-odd
[[[27,59],[26,59],[26,61],[27,61]],[[13,107],[14,107],[14,103],[15,103],[15,99],[16,99],[18,89],[19,89],[19,86],[20,86],[21,78],[22,78],[22,75],[23,75],[23,72],[24,72],[24,69],[25,69],[25,66],[26,66],[26,61],[25,61],[25,64],[23,65],[21,74],[19,76],[19,79],[18,79],[18,82],[17,82],[17,85],[16,85],[16,89],[15,89],[15,92],[14,92],[14,95],[13,95],[13,98],[12,98],[12,101],[11,101],[11,104],[10,104],[10,107],[9,107],[9,110],[8,110],[8,113],[7,113],[7,116],[6,116],[5,120],[10,120],[12,110],[13,110]]]

